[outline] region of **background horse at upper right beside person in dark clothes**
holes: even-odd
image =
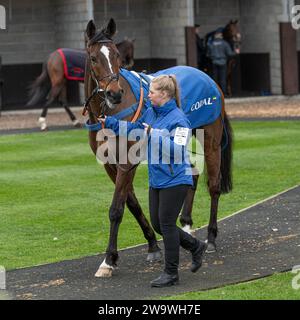
[[[201,64],[201,69],[211,75],[212,65],[211,60],[207,57],[207,44],[214,39],[216,30],[207,33],[204,37],[204,53],[201,54],[204,60]],[[227,41],[233,51],[241,47],[241,33],[238,25],[238,20],[230,20],[223,28],[223,39]],[[227,60],[227,95],[232,96],[232,73],[236,65],[236,57],[230,57]],[[225,92],[224,92],[225,94]]]

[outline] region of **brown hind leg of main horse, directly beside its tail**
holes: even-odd
[[[219,197],[221,194],[221,140],[223,125],[218,118],[213,124],[204,128],[204,156],[208,176],[210,194],[210,219],[208,224],[207,252],[216,251],[216,237],[218,233],[217,214]]]

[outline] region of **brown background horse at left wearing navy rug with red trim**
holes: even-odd
[[[118,51],[121,55],[123,68],[132,68],[134,64],[134,40],[124,39],[116,44]],[[81,124],[76,119],[74,113],[67,105],[67,80],[84,81],[84,75],[79,77],[69,78],[66,74],[64,66],[64,56],[62,50],[69,50],[74,55],[77,55],[80,60],[75,62],[76,69],[79,72],[84,73],[86,51],[77,49],[57,49],[52,52],[47,61],[43,64],[42,73],[36,78],[36,80],[30,85],[29,101],[27,107],[36,106],[39,103],[43,103],[47,98],[47,102],[43,107],[40,118],[38,120],[42,131],[47,129],[46,117],[48,107],[58,100],[59,104],[66,110],[75,127],[81,127]],[[83,65],[81,65],[83,64]]]

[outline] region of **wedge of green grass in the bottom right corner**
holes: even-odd
[[[300,289],[292,287],[291,272],[199,292],[164,297],[165,300],[300,300]],[[299,281],[299,280],[298,280]]]

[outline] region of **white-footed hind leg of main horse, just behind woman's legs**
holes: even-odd
[[[186,198],[184,200],[183,209],[179,219],[181,225],[183,226],[182,229],[188,233],[191,233],[191,228],[193,225],[192,210],[193,210],[194,197],[197,190],[198,179],[199,179],[198,169],[194,165],[192,165],[192,168],[193,168],[192,170],[193,170],[194,185],[188,189]]]

